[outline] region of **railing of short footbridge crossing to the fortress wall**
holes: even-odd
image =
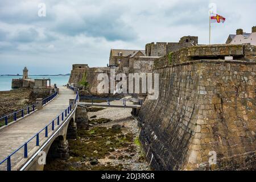
[[[80,96],[80,100],[91,100],[93,101],[106,101],[108,105],[110,105],[110,101],[123,101],[123,105],[126,106],[126,102],[139,102],[139,105],[143,104],[143,100],[137,99],[126,99],[126,98],[100,98],[100,97],[88,97],[88,96]]]

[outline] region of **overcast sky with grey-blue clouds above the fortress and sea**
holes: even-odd
[[[38,16],[40,3],[46,16]],[[76,63],[106,66],[111,48],[144,49],[184,35],[207,44],[209,3],[226,18],[213,24],[212,43],[256,25],[255,0],[1,0],[0,75],[21,73],[24,65],[30,74],[69,73]]]

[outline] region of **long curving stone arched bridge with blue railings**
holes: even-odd
[[[67,158],[67,138],[72,137],[79,96],[73,88],[60,87],[39,99],[20,118],[0,128],[0,170],[43,170],[49,158]],[[30,111],[31,110],[31,111]]]

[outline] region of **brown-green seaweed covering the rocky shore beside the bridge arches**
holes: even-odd
[[[111,165],[110,163],[98,163],[95,166],[90,164],[91,160],[104,159],[117,148],[127,148],[127,151],[134,151],[133,134],[123,134],[119,127],[106,128],[96,127],[92,130],[77,130],[77,139],[69,140],[68,160],[53,160],[47,164],[46,171],[54,170],[77,170],[77,171],[106,171],[122,170],[122,164]],[[123,156],[123,159],[130,159],[130,156]]]

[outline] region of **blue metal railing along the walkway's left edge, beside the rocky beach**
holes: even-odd
[[[44,98],[43,105],[46,105],[47,102],[51,101],[53,98],[57,96],[57,92],[53,93],[51,96]],[[31,114],[31,111],[34,112],[36,105],[27,106],[24,109],[20,109],[15,111],[14,113],[5,115],[4,117],[0,118],[0,121],[5,121],[5,125],[8,125],[10,122],[17,121],[19,118],[23,118],[27,114]]]

